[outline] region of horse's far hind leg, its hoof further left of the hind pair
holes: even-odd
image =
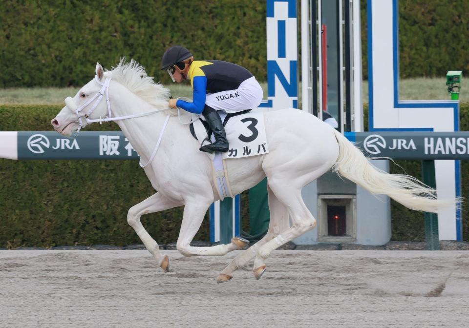
[[[269,196],[270,221],[266,235],[255,245],[237,255],[231,263],[221,271],[217,279],[218,283],[223,283],[233,278],[233,271],[244,267],[254,259],[260,246],[290,227],[287,208],[277,199],[268,185],[267,194]]]

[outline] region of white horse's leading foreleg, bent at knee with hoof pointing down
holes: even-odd
[[[137,205],[133,205],[128,210],[127,214],[128,224],[135,230],[145,247],[147,247],[156,261],[158,261],[158,265],[161,266],[161,268],[163,268],[165,271],[169,271],[170,260],[168,256],[161,254],[158,244],[153,238],[151,238],[147,230],[145,230],[142,223],[140,222],[140,217],[143,214],[159,212],[180,205],[182,205],[182,202],[177,203],[175,201],[169,200],[157,192],[143,202],[138,203]]]

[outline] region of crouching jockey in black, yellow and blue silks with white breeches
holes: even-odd
[[[230,62],[194,61],[191,52],[180,45],[166,50],[161,69],[168,71],[173,82],[191,81],[192,102],[170,99],[170,107],[204,115],[215,142],[199,150],[228,151],[225,128],[217,111],[235,113],[259,106],[263,91],[253,74]]]

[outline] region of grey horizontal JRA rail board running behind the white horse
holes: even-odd
[[[345,132],[345,137],[356,142],[369,157],[469,160],[469,132]],[[122,132],[81,132],[79,137],[65,138],[57,132],[7,131],[0,132],[0,139],[0,158],[139,159]]]

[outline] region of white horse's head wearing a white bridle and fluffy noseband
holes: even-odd
[[[110,78],[104,76],[103,67],[96,63],[95,78],[86,83],[75,97],[65,99],[64,108],[51,121],[54,129],[64,136],[70,136],[73,131],[85,127],[88,118],[97,119],[107,116],[110,110],[109,82]]]

